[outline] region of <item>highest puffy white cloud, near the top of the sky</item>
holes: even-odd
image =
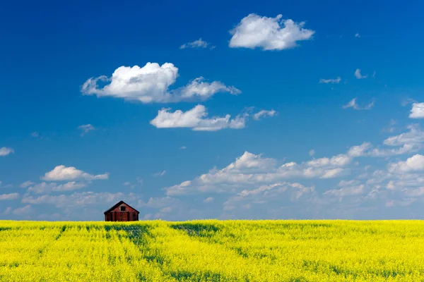
[[[242,18],[234,29],[230,47],[261,48],[263,50],[283,50],[297,46],[301,40],[312,39],[314,30],[303,28],[305,22],[295,23],[293,20],[261,17],[254,13]]]

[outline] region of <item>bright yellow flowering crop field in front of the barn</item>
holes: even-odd
[[[424,281],[424,222],[0,221],[0,281]]]

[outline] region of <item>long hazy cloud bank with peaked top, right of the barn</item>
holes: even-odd
[[[301,164],[289,162],[278,165],[276,159],[245,152],[220,170],[213,168],[194,180],[165,188],[168,196],[196,192],[229,192],[249,185],[271,185],[288,178],[334,178],[345,171],[352,158],[338,154],[331,158],[314,159]]]

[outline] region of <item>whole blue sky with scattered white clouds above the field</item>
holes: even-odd
[[[423,219],[423,3],[201,2],[2,5],[0,219]]]

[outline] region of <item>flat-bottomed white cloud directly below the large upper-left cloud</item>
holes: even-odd
[[[156,128],[192,128],[192,130],[215,131],[224,128],[245,128],[245,116],[236,116],[230,119],[225,117],[207,118],[205,106],[197,105],[189,111],[170,112],[170,109],[161,109],[158,116],[150,122]]]

